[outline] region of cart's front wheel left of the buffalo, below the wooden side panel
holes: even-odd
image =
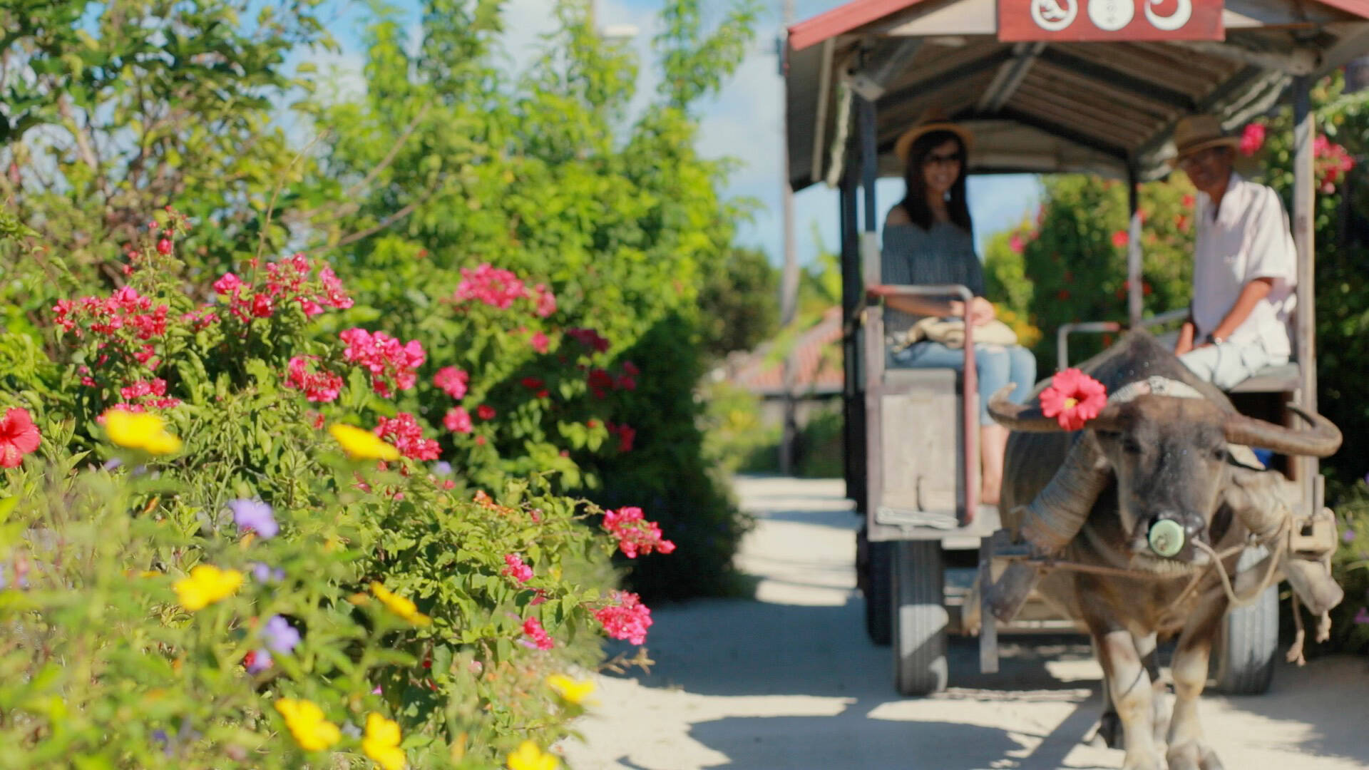
[[[946,604],[941,541],[893,544],[894,686],[901,695],[946,689]]]

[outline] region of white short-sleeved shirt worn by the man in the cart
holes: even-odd
[[[1298,282],[1298,251],[1279,193],[1232,174],[1216,218],[1206,193],[1198,193],[1197,208],[1192,301],[1197,340],[1217,329],[1246,284],[1273,278],[1269,295],[1227,341],[1264,343],[1270,355],[1291,355],[1288,318],[1298,301],[1292,290]]]

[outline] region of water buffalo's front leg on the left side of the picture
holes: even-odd
[[[1121,719],[1127,759],[1123,770],[1164,770],[1151,726],[1154,691],[1131,632],[1090,621],[1113,707]]]

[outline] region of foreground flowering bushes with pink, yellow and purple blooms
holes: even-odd
[[[446,308],[474,348],[460,369],[334,316],[341,280],[300,255],[197,304],[159,245],[185,229],[136,252],[127,285],[59,303],[60,367],[0,395],[7,762],[548,758],[585,699],[564,671],[650,625],[609,556],[674,549],[639,508],[560,493],[571,449],[624,451],[604,418],[641,371],[546,327],[560,358],[522,382],[491,348],[556,353],[493,314],[556,299],[493,269]],[[590,371],[611,373],[601,396]],[[515,441],[535,456],[490,462]]]

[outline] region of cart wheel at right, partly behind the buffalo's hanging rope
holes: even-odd
[[[1266,555],[1264,547],[1247,548],[1236,569],[1253,567]],[[1223,618],[1221,633],[1213,645],[1217,689],[1227,695],[1264,695],[1273,680],[1277,654],[1279,586],[1270,585],[1253,603]]]

